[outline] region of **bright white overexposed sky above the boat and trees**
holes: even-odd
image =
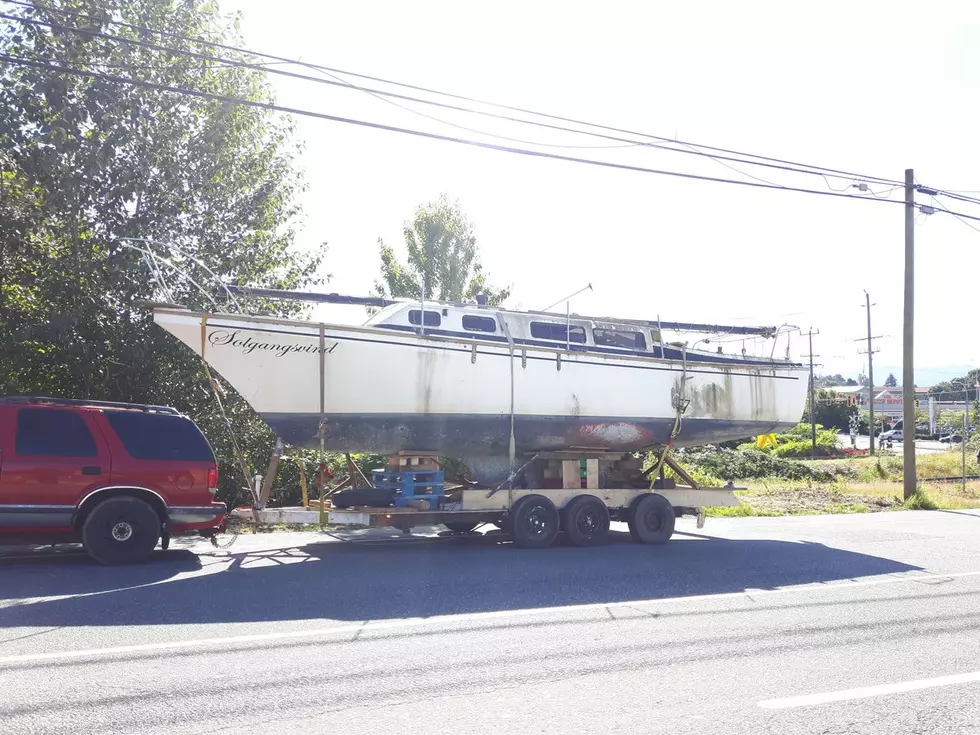
[[[975,2],[223,0],[221,7],[241,12],[255,50],[869,176],[902,180],[913,168],[924,185],[980,193]],[[505,145],[522,146],[500,136],[586,145],[538,149],[752,180],[706,158],[270,82],[280,104],[328,114]],[[867,290],[872,332],[881,335],[876,382],[891,371],[901,380],[899,204],[527,158],[313,119],[298,119],[296,135],[308,184],[298,243],[329,244],[329,291],[366,294],[378,275],[379,238],[403,253],[403,223],[445,192],[474,223],[491,282],[512,286],[508,306],[543,308],[591,283],[572,311],[812,327],[817,371],[857,376],[866,369],[859,354],[866,345],[855,340],[867,333]],[[736,167],[822,191],[854,183]],[[886,196],[890,187],[872,188]],[[942,203],[980,216],[980,206]],[[949,215],[920,214],[915,238],[916,382],[925,385],[980,364],[967,326],[980,231]],[[364,318],[352,307],[318,316]],[[759,354],[772,344],[746,347]],[[786,347],[780,342],[778,354]],[[807,353],[794,335],[790,356]]]

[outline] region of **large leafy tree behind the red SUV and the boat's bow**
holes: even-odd
[[[82,15],[61,15],[68,8]],[[242,45],[213,2],[47,0],[10,10],[54,25],[8,21],[0,50],[44,65],[271,101],[262,72],[94,36],[171,48],[109,19]],[[223,52],[225,56],[234,56]],[[215,413],[199,358],[155,327],[146,300],[159,283],[124,238],[179,246],[242,285],[298,288],[318,280],[322,248],[293,248],[302,186],[288,122],[266,110],[100,78],[8,64],[0,72],[0,391],[167,403],[215,445],[223,499],[244,482]],[[169,281],[189,308],[213,308],[196,287]],[[271,305],[265,305],[273,308]],[[291,306],[274,307],[279,314]],[[255,466],[273,437],[229,396]]]

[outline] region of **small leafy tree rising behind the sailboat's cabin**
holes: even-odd
[[[499,306],[510,296],[509,288],[487,283],[480,264],[473,225],[458,202],[443,194],[435,202],[415,210],[404,227],[408,260],[402,265],[390,245],[381,245],[381,280],[374,292],[384,298],[422,296],[438,301],[468,301],[485,294],[487,303]]]

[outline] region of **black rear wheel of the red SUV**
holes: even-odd
[[[145,561],[160,538],[160,518],[139,498],[103,500],[82,525],[82,544],[102,564]]]

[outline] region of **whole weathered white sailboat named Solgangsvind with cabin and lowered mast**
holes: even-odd
[[[630,452],[768,434],[800,420],[807,373],[776,357],[665,343],[666,330],[774,328],[584,317],[476,303],[238,289],[374,306],[362,325],[157,306],[287,444],[459,457],[476,479],[516,456]]]

